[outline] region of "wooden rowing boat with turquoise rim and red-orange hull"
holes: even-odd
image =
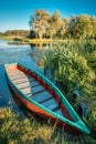
[[[89,130],[65,96],[44,75],[20,63],[4,66],[9,85],[29,110],[75,134],[89,134]]]

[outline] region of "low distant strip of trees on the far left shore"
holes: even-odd
[[[29,37],[30,31],[29,30],[8,30],[6,32],[0,32],[0,35],[3,37],[10,37],[10,35],[14,35],[14,37]]]

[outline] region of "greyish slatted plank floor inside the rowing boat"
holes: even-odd
[[[29,93],[29,96],[31,99],[35,100],[52,111],[57,109],[57,113],[62,114],[56,100],[51,93],[45,91],[45,88],[40,85],[35,79],[29,76],[28,74],[24,74],[21,71],[15,71],[14,73],[12,72],[10,76],[15,85],[22,90],[22,92]]]

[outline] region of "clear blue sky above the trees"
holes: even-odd
[[[67,19],[83,13],[96,17],[96,0],[0,0],[0,32],[30,30],[30,16],[35,9],[43,9],[51,14],[58,10]]]

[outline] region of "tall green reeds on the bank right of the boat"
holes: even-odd
[[[77,103],[85,102],[88,105],[85,121],[92,131],[96,130],[96,69],[93,66],[95,58],[92,40],[67,40],[63,44],[55,44],[45,56],[45,71],[50,68],[57,86],[68,100],[72,91],[83,92]]]

